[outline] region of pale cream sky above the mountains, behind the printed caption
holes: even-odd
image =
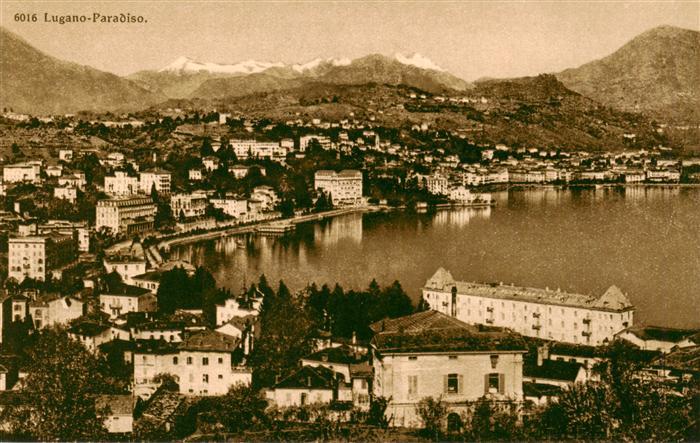
[[[659,25],[700,30],[700,1],[8,1],[0,23],[36,48],[129,74],[199,61],[305,62],[419,52],[466,80],[576,67]],[[44,14],[130,13],[143,24],[45,23]],[[35,23],[15,21],[37,13]],[[0,48],[1,50],[1,48]]]

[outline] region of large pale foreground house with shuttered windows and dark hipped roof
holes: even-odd
[[[467,413],[469,403],[523,399],[521,336],[498,328],[468,325],[437,311],[386,319],[371,325],[373,393],[390,399],[393,426],[421,426],[416,404],[438,398],[450,412]]]

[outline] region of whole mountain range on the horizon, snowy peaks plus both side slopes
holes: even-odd
[[[534,84],[522,79],[469,83],[420,54],[318,58],[295,64],[255,60],[220,64],[179,57],[162,69],[119,77],[58,60],[2,28],[0,48],[0,107],[35,114],[139,110],[168,99],[222,100],[323,84],[404,85],[448,94],[483,88],[507,94],[514,85]],[[600,60],[554,75],[571,91],[607,106],[700,121],[697,31],[654,28]]]

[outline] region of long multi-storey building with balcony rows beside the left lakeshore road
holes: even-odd
[[[156,205],[151,197],[125,197],[97,202],[95,229],[132,234],[153,229]]]

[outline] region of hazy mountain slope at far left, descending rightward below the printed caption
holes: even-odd
[[[142,109],[162,96],[132,81],[44,54],[0,28],[0,107],[31,114]]]

